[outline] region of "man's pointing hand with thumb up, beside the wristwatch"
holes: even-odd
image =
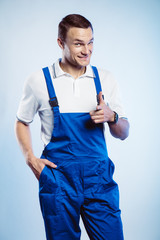
[[[105,104],[102,92],[98,94],[98,99],[99,105],[97,105],[96,110],[89,113],[92,121],[96,124],[114,121],[114,112]]]

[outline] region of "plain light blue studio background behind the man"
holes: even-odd
[[[95,30],[92,64],[119,82],[131,124],[126,141],[112,138],[125,240],[160,239],[160,1],[0,1],[0,239],[44,240],[38,183],[14,136],[25,78],[61,56],[57,25],[67,14],[86,16]],[[40,155],[38,117],[31,125]],[[82,240],[88,237],[82,226]]]

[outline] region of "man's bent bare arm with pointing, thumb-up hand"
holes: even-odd
[[[90,112],[91,119],[94,123],[104,123],[114,121],[114,112],[107,106],[102,98],[102,92],[99,93],[99,102],[95,111]],[[109,129],[115,138],[124,140],[129,135],[129,122],[126,119],[120,118],[117,123],[110,124]]]

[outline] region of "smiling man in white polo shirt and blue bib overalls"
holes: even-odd
[[[62,59],[27,79],[17,113],[17,139],[39,180],[48,240],[80,239],[80,215],[90,239],[123,239],[104,123],[122,140],[129,123],[111,73],[89,65],[93,40],[86,18],[63,18],[58,32]],[[37,112],[45,144],[41,158],[33,153],[29,131]]]

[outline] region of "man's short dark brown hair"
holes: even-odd
[[[91,28],[93,31],[92,24],[85,17],[79,14],[69,14],[62,19],[58,25],[58,37],[62,40],[66,40],[66,35],[71,27],[77,28]]]

